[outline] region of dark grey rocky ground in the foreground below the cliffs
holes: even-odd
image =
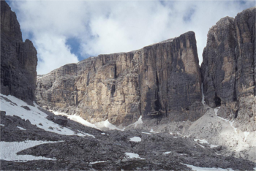
[[[1,100],[7,102],[8,99],[1,97]],[[15,105],[15,102],[10,100],[8,103]],[[34,109],[29,105],[27,107]],[[48,132],[32,121],[1,113],[0,142],[26,141],[29,144],[31,141],[42,141],[44,144],[17,151],[16,156],[45,157],[32,161],[7,161],[0,152],[1,170],[192,170],[189,165],[215,167],[216,170],[253,170],[256,167],[254,162],[235,158],[232,153],[221,155],[227,151],[224,145],[212,146],[203,140],[197,140],[194,134],[189,137],[181,136],[181,130],[184,130],[188,123],[178,126],[176,132],[171,133],[170,129],[174,126],[157,132],[157,129],[153,130],[152,127],[149,129],[146,123],[138,125],[137,129],[130,127],[125,131],[102,132],[63,116],[44,112],[48,115],[46,118],[49,123],[53,121],[53,124],[70,129],[75,134]],[[83,132],[83,135],[79,132]]]

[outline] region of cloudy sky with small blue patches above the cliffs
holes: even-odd
[[[211,26],[255,0],[7,0],[23,40],[31,39],[46,74],[89,56],[127,52],[195,31],[202,62]]]

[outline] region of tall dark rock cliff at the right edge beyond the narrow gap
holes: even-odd
[[[256,129],[256,8],[222,18],[208,32],[201,72],[206,103],[219,115]],[[245,123],[244,123],[245,122]]]

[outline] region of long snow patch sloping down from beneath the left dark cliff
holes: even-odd
[[[8,100],[4,99],[7,98]],[[21,106],[27,106],[30,110],[26,110]],[[0,110],[6,111],[6,115],[17,115],[20,118],[25,120],[29,120],[31,124],[37,125],[40,129],[44,129],[47,132],[54,132],[56,134],[65,134],[65,135],[78,135],[78,136],[86,136],[86,134],[78,133],[76,134],[71,129],[66,127],[59,126],[57,123],[53,123],[53,121],[49,121],[46,117],[48,116],[46,113],[43,113],[38,109],[38,105],[34,102],[34,106],[30,106],[23,102],[22,100],[16,98],[15,96],[5,96],[0,94]],[[39,124],[41,123],[41,124]],[[49,129],[52,127],[53,129]]]

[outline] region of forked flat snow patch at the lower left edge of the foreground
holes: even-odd
[[[63,142],[63,141],[58,141]],[[0,142],[0,159],[7,161],[31,161],[31,160],[56,160],[51,158],[46,158],[42,156],[32,156],[32,155],[17,155],[19,151],[23,151],[27,148],[34,147],[36,145],[56,143],[53,141],[23,141],[23,142]]]

